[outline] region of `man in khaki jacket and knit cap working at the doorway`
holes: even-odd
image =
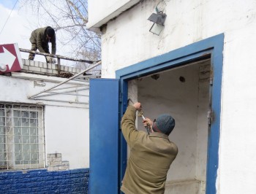
[[[121,120],[121,131],[130,148],[121,191],[125,194],[162,194],[165,193],[167,171],[178,154],[176,144],[168,138],[175,120],[170,115],[159,115],[154,122],[146,118],[143,125],[150,127],[148,135],[135,127],[136,111],[140,109],[139,102],[128,106]]]

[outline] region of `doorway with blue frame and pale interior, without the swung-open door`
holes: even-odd
[[[176,118],[170,140],[178,145],[179,153],[167,174],[168,184],[176,189],[167,193],[185,193],[183,189],[190,190],[189,194],[195,190],[217,193],[223,47],[224,34],[219,34],[116,71],[119,120],[132,95],[137,97],[132,100],[143,102],[146,117],[154,119],[166,110]],[[121,132],[118,145],[120,186],[127,167],[127,143]]]

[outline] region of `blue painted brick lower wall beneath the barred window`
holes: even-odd
[[[0,171],[0,193],[89,193],[89,168]]]

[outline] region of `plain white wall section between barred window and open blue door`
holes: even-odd
[[[89,109],[45,106],[46,153],[59,152],[69,168],[89,168]]]

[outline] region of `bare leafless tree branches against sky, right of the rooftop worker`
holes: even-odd
[[[62,47],[71,50],[69,57],[100,60],[100,34],[86,29],[87,0],[20,0],[20,6],[34,10],[38,25],[52,26],[57,31]],[[79,63],[76,66],[85,67]]]

